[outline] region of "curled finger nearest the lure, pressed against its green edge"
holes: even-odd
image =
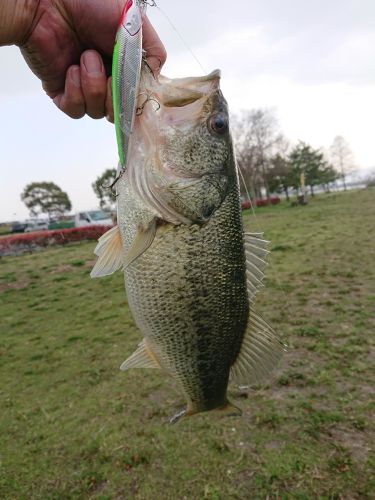
[[[86,50],[81,56],[81,79],[86,113],[91,118],[103,118],[105,116],[107,76],[103,60],[95,50]]]

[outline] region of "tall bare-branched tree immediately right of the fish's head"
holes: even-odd
[[[283,144],[275,114],[270,109],[243,111],[234,117],[232,130],[238,165],[253,197],[270,196],[268,172],[272,158]]]

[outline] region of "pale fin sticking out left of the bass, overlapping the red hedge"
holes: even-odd
[[[98,260],[91,271],[91,278],[108,276],[121,269],[124,250],[118,226],[113,227],[99,238],[94,253],[98,256]]]

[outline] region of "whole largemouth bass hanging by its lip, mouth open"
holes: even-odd
[[[228,382],[258,383],[283,351],[253,309],[267,242],[244,233],[220,72],[155,78],[143,64],[118,226],[102,236],[92,277],[125,273],[143,335],[121,366],[161,368],[186,397],[185,415],[239,414]]]

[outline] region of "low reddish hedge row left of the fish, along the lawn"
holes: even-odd
[[[6,236],[0,238],[0,255],[13,255],[82,240],[97,240],[108,229],[109,226],[86,226]]]

